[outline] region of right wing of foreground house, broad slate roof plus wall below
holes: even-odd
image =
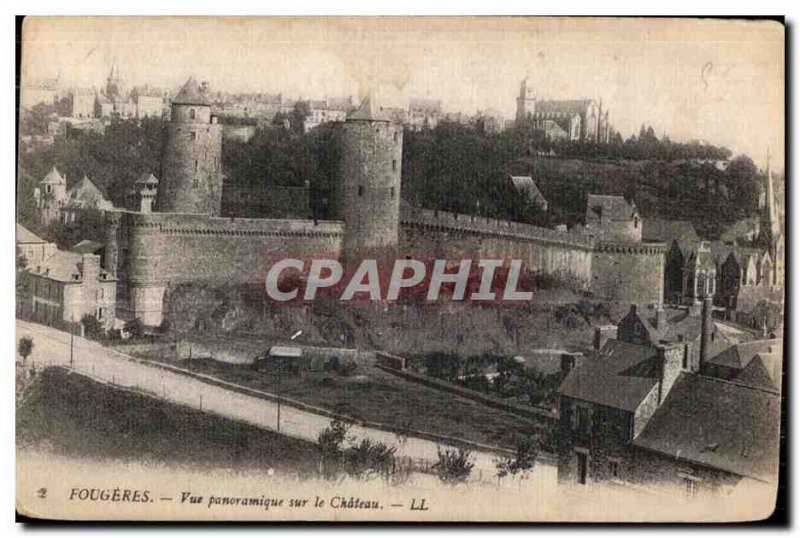
[[[776,483],[780,394],[682,373],[633,442],[620,478],[687,497],[743,479]]]

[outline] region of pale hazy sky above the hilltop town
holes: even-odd
[[[538,98],[602,99],[627,138],[642,123],[673,141],[784,158],[784,30],[769,21],[498,18],[28,18],[22,77],[323,98],[372,92],[384,106],[514,117]]]

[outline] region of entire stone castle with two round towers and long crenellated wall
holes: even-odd
[[[222,137],[205,92],[194,79],[183,86],[161,177],[137,182],[135,207],[106,212],[108,269],[119,298],[146,325],[161,325],[165,295],[177,285],[263,286],[269,267],[286,257],[513,258],[603,298],[663,300],[663,244],[401,204],[402,126],[370,98],[339,124],[340,220],[220,217]]]

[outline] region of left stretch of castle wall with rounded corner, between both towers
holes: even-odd
[[[337,221],[210,218],[203,215],[125,213],[119,273],[128,302],[147,325],[160,325],[165,290],[186,282],[260,283],[286,257],[337,258]]]

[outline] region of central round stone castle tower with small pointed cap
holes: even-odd
[[[345,262],[393,259],[400,222],[403,127],[380,114],[367,96],[341,128],[340,214]]]

